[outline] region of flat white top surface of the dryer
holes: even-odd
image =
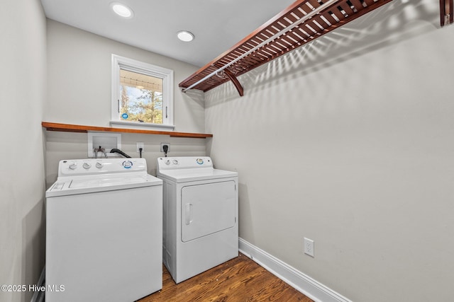
[[[214,168],[195,168],[195,169],[175,169],[161,170],[157,174],[158,178],[166,178],[173,182],[190,182],[196,180],[212,180],[217,178],[235,178],[237,172],[218,170]]]

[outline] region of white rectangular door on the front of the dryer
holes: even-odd
[[[182,188],[182,241],[187,242],[235,226],[233,180]]]

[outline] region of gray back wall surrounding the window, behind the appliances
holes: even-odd
[[[184,94],[178,83],[196,66],[140,50],[84,30],[48,19],[48,102],[44,120],[66,124],[109,127],[111,120],[111,54],[172,69],[175,78],[176,132],[205,131],[204,95]],[[143,157],[155,175],[156,158],[164,156],[160,143],[170,143],[169,156],[203,156],[205,139],[170,138],[162,135],[121,134],[121,149],[137,156],[136,142],[145,143]],[[58,161],[87,158],[87,134],[46,132],[47,185],[55,181]]]

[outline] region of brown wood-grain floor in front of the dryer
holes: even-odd
[[[167,269],[162,267],[162,290],[138,302],[313,302],[242,254],[179,284],[175,284]]]

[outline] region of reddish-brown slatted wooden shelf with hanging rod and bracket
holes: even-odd
[[[232,81],[238,93],[243,95],[243,87],[236,79],[238,76],[336,30],[389,1],[392,0],[295,1],[230,50],[179,83],[179,87],[183,91],[192,87],[205,92]]]

